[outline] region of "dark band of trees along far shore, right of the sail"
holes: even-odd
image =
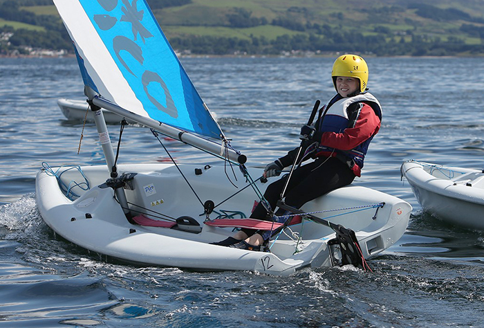
[[[200,55],[281,55],[281,53],[335,53],[354,52],[378,56],[444,56],[481,55],[483,45],[468,45],[458,38],[443,41],[438,37],[425,38],[413,35],[409,42],[384,35],[364,36],[361,33],[335,32],[334,37],[320,35],[282,35],[274,40],[265,37],[252,37],[250,40],[236,37],[188,36],[170,39],[171,45],[179,50],[187,50]]]

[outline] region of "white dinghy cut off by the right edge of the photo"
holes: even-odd
[[[406,161],[401,167],[423,210],[457,226],[484,230],[484,173]]]

